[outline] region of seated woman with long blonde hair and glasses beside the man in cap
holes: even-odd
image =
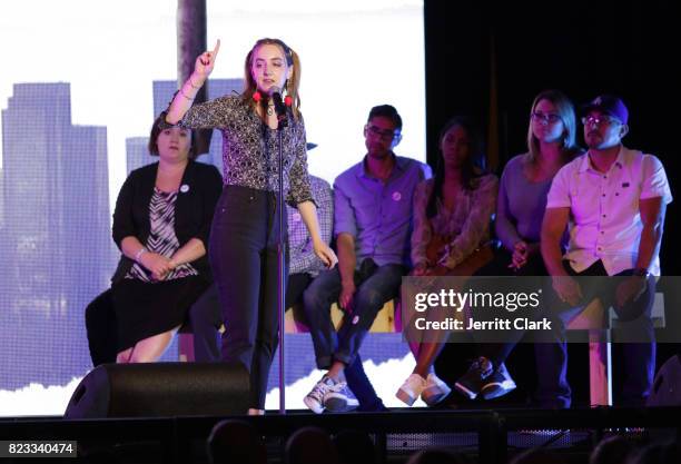
[[[527,127],[527,152],[506,162],[501,176],[494,221],[502,248],[480,270],[486,276],[545,276],[540,234],[553,176],[581,150],[575,142],[576,118],[560,90],[544,90],[533,100]],[[455,388],[471,399],[492,399],[515,388],[504,364],[523,332],[510,332],[504,343],[483,344]],[[541,376],[540,376],[541,377]]]

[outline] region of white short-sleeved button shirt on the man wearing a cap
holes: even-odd
[[[564,259],[581,273],[601,259],[608,275],[635,267],[643,230],[639,200],[672,196],[664,167],[652,155],[622,146],[608,172],[599,172],[584,154],[555,175],[546,208],[570,208],[570,244]],[[660,257],[650,272],[660,275]]]

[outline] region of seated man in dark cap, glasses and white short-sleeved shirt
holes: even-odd
[[[642,405],[654,374],[652,276],[660,275],[671,191],[658,158],[622,145],[629,111],[620,98],[595,98],[583,108],[582,122],[589,150],[554,177],[542,225],[542,256],[555,290],[550,306],[560,316],[549,335],[557,344],[539,345],[537,399],[543,406],[570,406],[564,322],[600,298],[621,322],[613,336],[630,342],[622,347],[625,376],[616,393],[621,404]],[[570,243],[563,256],[560,243],[565,227]]]

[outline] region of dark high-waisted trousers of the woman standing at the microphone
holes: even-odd
[[[249,407],[263,409],[267,377],[278,342],[276,197],[226,186],[210,233],[210,266],[225,319],[223,361],[250,373]],[[286,280],[286,275],[284,275]],[[284,282],[286,285],[286,282]]]

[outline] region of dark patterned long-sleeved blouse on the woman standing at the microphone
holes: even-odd
[[[286,203],[296,206],[313,200],[307,177],[307,149],[303,117],[289,113],[283,129],[284,191]],[[225,96],[191,107],[179,126],[218,129],[223,132],[225,185],[278,191],[278,135],[240,97]]]

